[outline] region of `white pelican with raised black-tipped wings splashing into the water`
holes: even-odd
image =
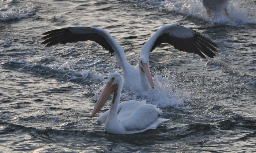
[[[165,25],[160,28],[142,47],[138,64],[133,67],[126,60],[123,48],[104,29],[93,27],[69,27],[43,33],[42,44],[50,47],[56,44],[76,43],[78,41],[95,41],[109,51],[110,56],[123,69],[124,84],[132,89],[143,87],[144,90],[154,89],[154,82],[149,70],[149,55],[158,45],[169,43],[180,51],[195,53],[202,58],[214,58],[218,47],[211,40],[180,25]],[[203,53],[202,53],[203,52]]]

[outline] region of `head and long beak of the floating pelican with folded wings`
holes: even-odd
[[[106,104],[109,96],[112,93],[114,94],[117,94],[118,92],[121,93],[123,82],[124,82],[123,77],[119,73],[111,73],[109,75],[106,86],[101,92],[101,95],[99,96],[99,99],[94,106],[93,112],[91,113],[91,118],[96,113],[98,113],[99,110],[101,110],[101,108]]]

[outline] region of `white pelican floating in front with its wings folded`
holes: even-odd
[[[163,112],[155,105],[146,104],[144,100],[130,100],[119,104],[122,87],[123,77],[119,73],[111,73],[91,113],[92,118],[106,104],[110,94],[114,93],[104,125],[106,132],[114,134],[139,133],[155,129],[162,122],[169,120],[159,118]]]

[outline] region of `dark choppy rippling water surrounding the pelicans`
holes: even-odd
[[[255,0],[231,0],[230,18],[209,19],[199,0],[2,0],[0,152],[255,151],[255,8]],[[145,98],[170,121],[132,135],[106,133],[90,118],[104,80],[121,73],[108,52],[93,42],[45,48],[40,40],[56,28],[104,28],[136,65],[143,43],[166,24],[191,27],[220,50],[204,60],[156,48],[155,89],[124,91],[121,101]]]

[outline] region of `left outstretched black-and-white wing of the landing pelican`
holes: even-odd
[[[45,47],[56,44],[77,43],[78,41],[95,41],[109,51],[110,56],[117,61],[117,64],[123,66],[124,63],[128,63],[123,48],[107,31],[101,28],[69,27],[48,31],[42,35],[46,35],[41,38],[41,40],[45,40],[42,42],[42,44],[46,44]]]

